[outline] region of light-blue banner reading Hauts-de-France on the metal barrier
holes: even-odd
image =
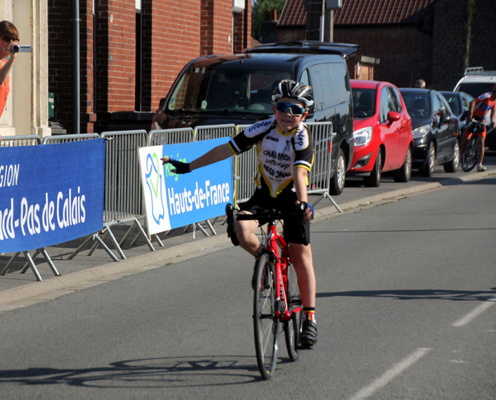
[[[178,175],[162,157],[190,162],[229,138],[139,149],[141,182],[150,235],[225,214],[233,202],[232,158]]]

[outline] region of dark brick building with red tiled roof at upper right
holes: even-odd
[[[278,41],[304,40],[308,0],[287,0]],[[333,41],[360,45],[380,60],[374,78],[409,87],[452,90],[466,67],[496,70],[496,0],[344,0],[333,19]]]

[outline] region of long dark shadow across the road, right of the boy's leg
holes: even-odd
[[[316,297],[390,297],[397,300],[451,300],[455,302],[496,302],[496,288],[489,291],[456,291],[444,289],[406,289],[383,291],[347,291],[317,293]]]

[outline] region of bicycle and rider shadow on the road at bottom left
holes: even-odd
[[[130,389],[242,385],[262,380],[254,358],[230,355],[159,357],[116,361],[94,368],[0,370],[0,384]],[[207,375],[208,379],[205,379]]]

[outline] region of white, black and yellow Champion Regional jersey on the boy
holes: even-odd
[[[256,145],[256,186],[267,187],[273,198],[293,188],[294,167],[310,171],[313,164],[313,143],[307,126],[300,123],[285,132],[277,126],[275,116],[251,125],[231,138],[228,145],[234,154]]]

